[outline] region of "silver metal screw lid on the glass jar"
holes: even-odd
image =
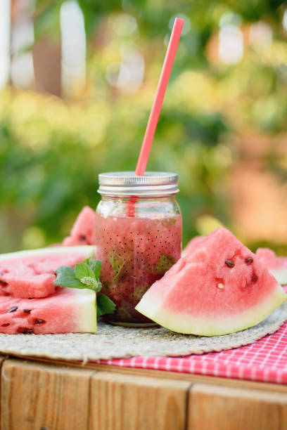
[[[110,196],[161,196],[179,192],[177,174],[161,171],[146,171],[136,176],[134,171],[113,171],[98,175],[98,193]]]

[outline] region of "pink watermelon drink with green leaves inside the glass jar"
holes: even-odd
[[[96,213],[97,258],[103,293],[117,305],[112,323],[151,323],[134,307],[181,256],[181,215],[141,217]]]

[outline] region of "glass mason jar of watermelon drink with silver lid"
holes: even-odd
[[[114,172],[99,175],[96,209],[97,258],[103,293],[116,304],[110,323],[154,323],[134,307],[181,256],[181,212],[175,200],[177,174]]]

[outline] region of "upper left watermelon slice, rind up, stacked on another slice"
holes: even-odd
[[[75,267],[92,254],[92,246],[51,247],[0,254],[0,296],[47,297],[56,291],[56,268]]]

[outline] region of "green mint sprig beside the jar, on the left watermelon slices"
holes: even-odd
[[[57,278],[54,281],[55,285],[69,288],[88,288],[94,292],[101,291],[100,260],[84,260],[82,263],[76,264],[75,268],[69,266],[60,266],[56,269]],[[97,294],[96,296],[96,313],[97,318],[105,313],[113,313],[115,304],[105,294]]]

